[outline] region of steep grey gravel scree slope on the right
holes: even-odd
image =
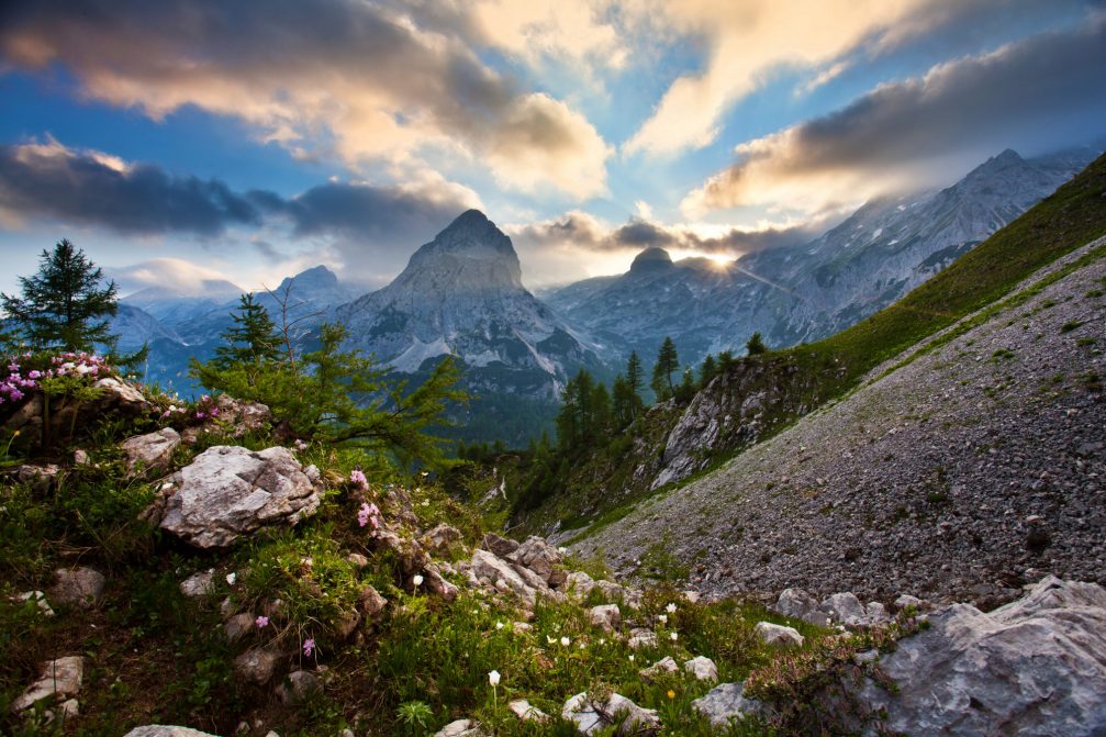
[[[987,608],[1045,573],[1106,583],[1104,280],[1098,259],[879,378],[899,356],[574,552],[603,552],[622,574],[665,553],[713,593],[909,592]]]

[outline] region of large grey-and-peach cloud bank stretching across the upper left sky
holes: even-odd
[[[595,127],[446,30],[418,3],[73,0],[7,10],[0,54],[62,63],[85,95],[154,118],[185,105],[242,118],[298,156],[330,147],[357,166],[445,150],[504,186],[605,193]]]

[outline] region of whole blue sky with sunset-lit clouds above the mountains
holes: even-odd
[[[463,210],[542,287],[740,258],[1106,135],[1106,2],[9,0],[0,290],[375,289]]]

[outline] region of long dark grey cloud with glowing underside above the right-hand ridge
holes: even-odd
[[[1033,153],[1102,135],[1106,21],[1051,32],[884,84],[845,108],[737,147],[737,163],[691,191],[689,217],[779,205],[818,212],[954,179],[963,160]]]

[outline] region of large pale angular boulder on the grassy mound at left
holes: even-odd
[[[319,509],[320,475],[288,448],[218,445],[166,485],[161,528],[197,548],[225,548],[270,525],[295,525]]]

